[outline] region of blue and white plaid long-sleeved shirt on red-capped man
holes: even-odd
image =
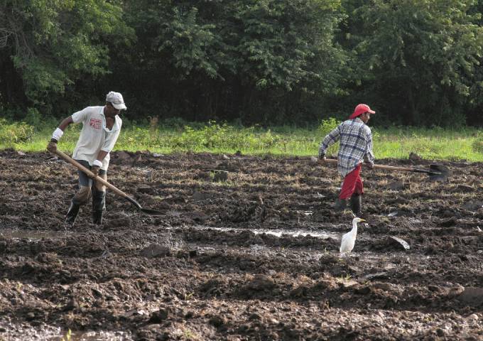
[[[345,176],[354,171],[359,163],[367,161],[374,163],[372,153],[372,133],[362,119],[348,119],[330,131],[323,139],[319,148],[319,157],[325,156],[325,151],[340,139],[337,170]]]

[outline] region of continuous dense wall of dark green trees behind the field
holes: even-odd
[[[478,124],[475,0],[0,0],[0,105],[65,116],[123,92],[130,118]],[[2,45],[2,38],[6,44]]]

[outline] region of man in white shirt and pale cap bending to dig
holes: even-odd
[[[119,92],[109,92],[106,96],[106,105],[103,107],[87,107],[60,122],[47,146],[48,151],[57,151],[57,142],[69,124],[82,122],[82,131],[72,158],[89,168],[94,175],[107,180],[109,152],[114,148],[121,131],[122,120],[119,113],[126,109],[122,95]],[[65,221],[74,224],[80,206],[85,205],[92,196],[92,222],[102,224],[102,212],[106,206],[106,186],[102,183],[93,185],[93,180],[86,173],[78,173],[79,190],[72,197]]]

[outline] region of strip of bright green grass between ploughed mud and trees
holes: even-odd
[[[55,125],[40,129],[16,122],[0,120],[0,149],[44,151]],[[163,125],[157,121],[145,124],[124,122],[115,150],[151,151],[154,153],[211,152],[275,156],[316,156],[323,136],[337,125],[335,120],[322,121],[313,129],[277,126],[263,129],[229,124]],[[71,152],[82,125],[71,125],[60,141],[60,150]],[[474,128],[416,129],[373,128],[376,158],[408,158],[416,153],[426,159],[483,161],[483,134]],[[329,153],[336,154],[337,146]]]

